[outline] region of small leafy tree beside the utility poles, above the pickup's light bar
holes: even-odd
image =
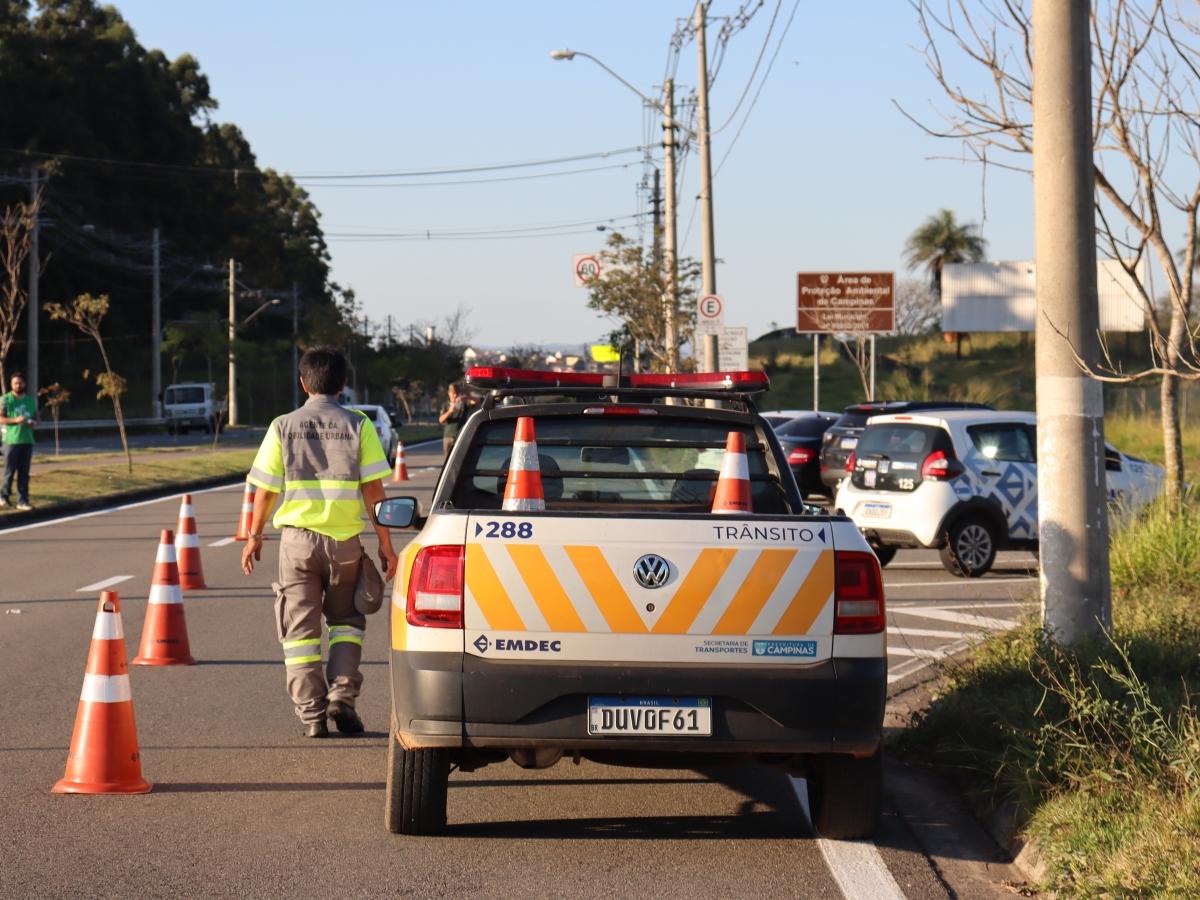
[[[619,232],[608,236],[604,275],[588,282],[588,308],[614,323],[608,343],[637,359],[646,359],[649,371],[671,371],[666,346],[667,270],[661,256],[643,248]],[[696,296],[700,293],[700,263],[679,259],[676,284],[676,340],[690,343],[696,328]]]

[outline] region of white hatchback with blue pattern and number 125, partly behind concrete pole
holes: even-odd
[[[1038,548],[1037,415],[948,409],[868,421],[835,505],[887,565],[902,547],[937,548],[953,575],[978,577],[1000,550]],[[1109,500],[1136,511],[1163,469],[1105,444]]]

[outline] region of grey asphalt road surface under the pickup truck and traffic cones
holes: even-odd
[[[414,480],[389,492],[427,500],[440,446],[407,456]],[[816,840],[803,785],[770,769],[570,761],[456,772],[444,836],[389,834],[386,619],[368,620],[364,644],[368,733],[302,738],[271,617],[278,542],[253,576],[241,574],[241,545],[224,541],[240,502],[238,488],[194,496],[210,590],[185,594],[185,607],[200,664],[131,670],[155,782],[142,797],[48,790],[62,776],[95,620],[97,592],[84,588],[130,576],[113,589],[132,656],[157,535],[174,527],[179,500],[0,532],[0,896],[1010,896],[998,882],[1013,870],[956,800],[892,763],[874,844]],[[884,570],[892,666],[902,673],[893,692],[926,678],[926,661],[967,634],[1003,626],[995,619],[1019,608],[1004,604],[1031,583],[1013,581],[1020,560],[970,583],[930,562],[901,553]]]

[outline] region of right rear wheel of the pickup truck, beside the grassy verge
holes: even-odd
[[[809,778],[809,809],[821,838],[872,836],[883,812],[883,749],[862,760],[850,754],[818,754]]]

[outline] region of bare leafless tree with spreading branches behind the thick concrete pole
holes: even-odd
[[[1032,154],[1034,140],[1027,0],[979,0],[970,7],[967,0],[948,0],[943,13],[926,0],[910,2],[926,38],[929,70],[950,101],[940,127],[917,124],[930,134],[960,140],[970,160],[1028,172],[1020,160]],[[1200,379],[1198,329],[1188,323],[1200,209],[1200,24],[1164,0],[1094,0],[1091,24],[1098,242],[1106,256],[1121,260],[1136,288],[1152,355],[1150,366],[1126,372],[1102,335],[1103,362],[1078,352],[1075,360],[1100,382],[1162,378],[1166,493],[1177,506],[1183,492],[1180,382]],[[944,66],[941,40],[982,67],[988,90],[959,86]],[[1182,245],[1169,236],[1181,224]],[[1140,276],[1150,254],[1166,275],[1165,334]],[[1068,340],[1074,326],[1078,336],[1075,323],[1049,324]]]

